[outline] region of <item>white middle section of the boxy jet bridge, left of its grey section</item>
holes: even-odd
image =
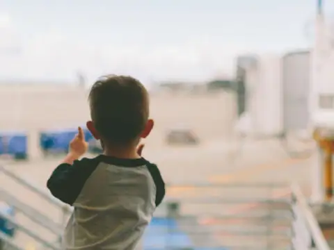
[[[282,133],[281,87],[280,56],[258,56],[256,62],[246,68],[246,114],[241,116],[237,128],[251,136],[270,137]],[[245,128],[246,124],[250,128]]]

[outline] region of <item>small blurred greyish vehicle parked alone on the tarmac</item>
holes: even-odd
[[[198,144],[199,139],[189,128],[173,128],[166,136],[167,144]]]

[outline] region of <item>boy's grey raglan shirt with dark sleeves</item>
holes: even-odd
[[[47,188],[74,207],[63,238],[66,250],[135,249],[165,196],[157,165],[104,155],[59,165]]]

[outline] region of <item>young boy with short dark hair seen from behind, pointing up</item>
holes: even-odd
[[[54,197],[74,207],[65,228],[64,249],[134,249],[164,199],[165,184],[156,165],[141,157],[153,128],[148,92],[130,76],[105,76],[89,94],[87,128],[104,153],[79,158],[88,144],[84,133],[47,181]]]

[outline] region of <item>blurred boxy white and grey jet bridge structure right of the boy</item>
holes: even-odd
[[[237,130],[277,136],[307,129],[310,76],[310,51],[237,58]]]

